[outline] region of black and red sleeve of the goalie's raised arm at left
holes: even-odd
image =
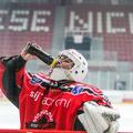
[[[24,74],[25,61],[20,55],[0,58],[0,89],[18,106],[20,89]],[[17,78],[21,80],[17,80]],[[19,82],[18,82],[19,81]]]

